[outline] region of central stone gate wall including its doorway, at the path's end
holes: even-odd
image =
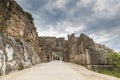
[[[56,37],[39,37],[39,42],[41,46],[41,61],[47,61],[47,55],[50,55],[50,59],[53,60],[54,56],[59,56],[61,60],[68,61],[69,56],[65,52],[67,47],[66,40]]]

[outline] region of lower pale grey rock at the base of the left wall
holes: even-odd
[[[13,37],[0,34],[0,74],[22,70],[40,62],[37,53],[29,42],[17,42]]]

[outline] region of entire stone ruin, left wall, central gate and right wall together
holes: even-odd
[[[85,34],[65,38],[39,37],[25,11],[14,0],[0,0],[0,75],[29,68],[58,56],[89,69],[108,68],[111,49]]]

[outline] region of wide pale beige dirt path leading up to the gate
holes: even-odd
[[[52,61],[42,63],[30,69],[3,76],[0,80],[120,80],[119,78],[95,73],[85,67]]]

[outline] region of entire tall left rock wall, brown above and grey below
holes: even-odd
[[[0,0],[0,74],[39,63],[38,34],[14,0]]]

